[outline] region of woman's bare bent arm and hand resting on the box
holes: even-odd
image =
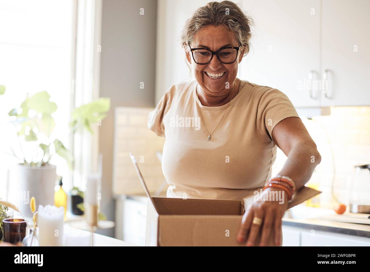
[[[288,117],[277,123],[272,130],[272,140],[287,156],[286,163],[279,175],[290,177],[295,183],[296,190],[299,190],[309,181],[313,170],[321,161],[316,144],[302,120],[297,117]],[[267,191],[281,190],[271,187],[264,190],[264,192]],[[282,217],[287,205],[287,201],[283,204],[279,201],[254,201],[251,203],[243,216],[238,241],[253,246],[258,235],[261,234],[259,245],[268,245],[268,239],[273,232],[275,244],[280,245]],[[262,226],[252,224],[255,217],[262,220]]]

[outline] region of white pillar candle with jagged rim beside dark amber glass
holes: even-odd
[[[38,206],[38,242],[40,246],[63,246],[64,208]]]

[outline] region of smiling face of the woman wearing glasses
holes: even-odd
[[[208,48],[217,51],[222,47],[235,46],[239,43],[235,35],[224,26],[206,26],[194,35],[194,40],[190,44],[191,48]],[[208,96],[225,96],[232,89],[238,73],[238,63],[242,60],[242,48],[238,51],[238,57],[231,64],[223,64],[216,55],[208,64],[196,64],[191,52],[186,53],[186,58],[191,63],[192,72],[195,79],[202,87],[205,95]],[[226,83],[229,82],[229,88]]]

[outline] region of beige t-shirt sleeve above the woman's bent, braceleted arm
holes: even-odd
[[[277,123],[288,117],[299,115],[285,93],[277,89],[266,91],[258,105],[258,121],[262,132],[272,138],[272,130]]]

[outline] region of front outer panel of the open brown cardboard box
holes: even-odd
[[[158,245],[243,246],[236,241],[242,215],[159,215]]]

